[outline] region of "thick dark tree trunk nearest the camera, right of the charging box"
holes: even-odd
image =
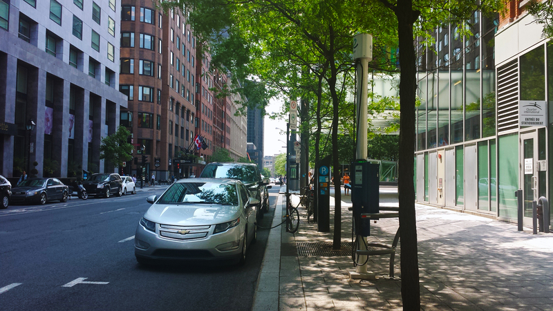
[[[413,157],[415,154],[415,97],[417,79],[413,23],[418,12],[412,0],[398,0],[395,8],[400,47],[400,198],[401,275],[403,310],[420,310],[420,285],[415,221]]]

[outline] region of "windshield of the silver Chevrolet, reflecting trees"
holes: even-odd
[[[178,182],[171,185],[157,204],[220,204],[238,205],[236,185],[215,182]]]

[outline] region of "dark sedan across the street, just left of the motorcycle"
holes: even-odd
[[[50,200],[66,202],[69,187],[57,178],[27,178],[12,188],[11,202],[44,204]]]

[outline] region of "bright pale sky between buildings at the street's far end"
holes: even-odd
[[[263,130],[263,155],[274,156],[275,154],[286,152],[286,122],[288,120],[271,120],[269,115],[281,111],[283,100],[271,99],[269,105],[265,108],[265,129]],[[276,128],[283,129],[280,131]],[[282,140],[280,142],[279,140]]]

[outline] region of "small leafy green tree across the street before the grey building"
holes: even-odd
[[[124,126],[119,126],[115,133],[102,138],[100,160],[106,161],[106,167],[109,167],[109,171],[122,166],[123,162],[133,158],[133,145],[127,142],[130,135],[131,132]]]

